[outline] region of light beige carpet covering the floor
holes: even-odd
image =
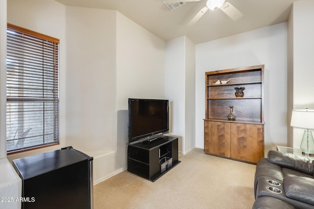
[[[94,186],[94,209],[251,209],[256,165],[195,148],[156,182],[123,171]]]

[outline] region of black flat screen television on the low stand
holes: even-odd
[[[129,98],[129,143],[169,133],[169,100]]]

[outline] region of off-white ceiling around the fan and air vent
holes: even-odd
[[[205,6],[206,0],[186,2],[172,11],[161,0],[56,1],[69,6],[117,10],[164,41],[187,36],[200,44],[286,22],[292,3],[297,0],[227,0],[243,13],[240,20],[231,20],[221,10],[209,10],[191,27],[187,23]]]

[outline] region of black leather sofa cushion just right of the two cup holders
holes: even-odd
[[[284,188],[288,198],[314,205],[314,179],[287,176],[284,178]]]

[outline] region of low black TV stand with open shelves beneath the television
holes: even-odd
[[[128,145],[128,171],[152,182],[181,163],[178,160],[178,138],[169,136],[157,138],[148,143]],[[172,166],[161,172],[160,160],[164,157],[172,158]]]

